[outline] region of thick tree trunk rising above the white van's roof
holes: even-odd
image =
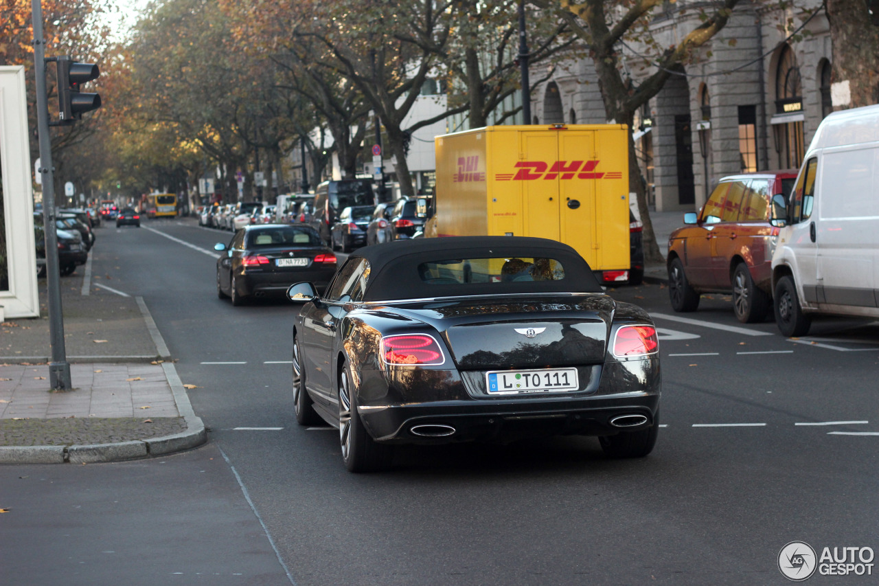
[[[827,0],[833,53],[833,82],[849,84],[852,101],[844,107],[879,102],[879,26],[870,21],[864,0]]]

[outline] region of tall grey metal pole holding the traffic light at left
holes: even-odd
[[[48,290],[49,339],[52,360],[49,362],[49,384],[56,391],[69,391],[70,364],[64,348],[64,321],[61,306],[61,275],[58,271],[58,235],[55,232],[54,168],[52,139],[49,136],[48,97],[46,94],[46,46],[43,40],[43,8],[40,0],[32,0],[33,62],[37,78],[37,129],[40,134],[40,165],[43,185],[43,226],[46,231],[46,282]]]

